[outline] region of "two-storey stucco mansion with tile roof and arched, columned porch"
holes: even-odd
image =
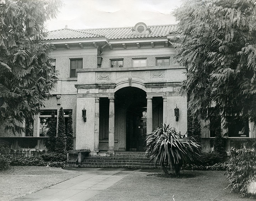
[[[185,135],[187,96],[180,86],[187,69],[174,59],[169,38],[175,34],[176,25],[143,22],[134,27],[65,27],[48,32],[46,42],[54,45],[52,62],[58,72],[52,96],[32,123],[24,123],[30,129],[20,136],[0,131],[0,141],[13,149],[44,149],[47,120],[54,112],[58,121],[60,107],[65,120],[69,112],[73,115],[74,150],[144,151],[143,135],[164,123]],[[214,149],[214,134],[207,124],[202,123],[202,147],[209,152]],[[254,123],[248,126],[247,133],[239,124],[233,127],[226,150],[256,138]]]

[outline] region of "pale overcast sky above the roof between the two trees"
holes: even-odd
[[[181,0],[62,0],[63,6],[55,19],[48,20],[48,31],[71,29],[133,27],[176,23],[171,15]]]

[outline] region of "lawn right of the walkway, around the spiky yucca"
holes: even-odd
[[[224,188],[228,185],[223,171],[188,171],[180,175],[162,176],[137,171],[118,181],[89,201],[249,201]]]

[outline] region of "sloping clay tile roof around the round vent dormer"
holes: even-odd
[[[69,29],[63,28],[48,32],[46,40],[61,40],[61,39],[78,39],[78,38],[107,38],[113,39],[134,39],[134,38],[153,38],[166,37],[170,32],[177,30],[176,25],[157,25],[148,26],[150,34],[133,34],[133,27],[119,28],[96,28],[96,29]]]

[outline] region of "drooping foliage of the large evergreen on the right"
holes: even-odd
[[[253,0],[188,0],[174,12],[178,34],[170,38],[186,66],[182,88],[192,114],[216,113],[256,121],[256,5]]]

